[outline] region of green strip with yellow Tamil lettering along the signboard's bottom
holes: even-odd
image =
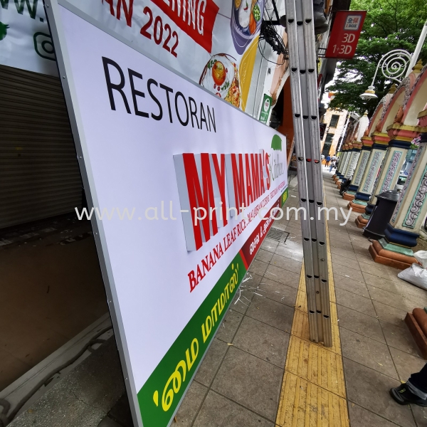
[[[238,253],[138,393],[144,427],[167,426],[246,274]]]

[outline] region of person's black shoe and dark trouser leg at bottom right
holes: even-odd
[[[421,371],[411,374],[405,384],[391,389],[390,395],[400,405],[427,406],[427,364]]]

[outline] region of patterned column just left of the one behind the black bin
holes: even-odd
[[[359,214],[363,214],[367,207],[390,138],[387,134],[374,132],[371,139],[374,144],[372,144],[371,154],[369,154],[368,166],[364,171],[354,200],[347,205],[348,209],[352,208],[354,212],[359,212]]]

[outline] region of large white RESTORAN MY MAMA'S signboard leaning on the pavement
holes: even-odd
[[[287,197],[285,137],[53,1],[135,422],[168,426]]]

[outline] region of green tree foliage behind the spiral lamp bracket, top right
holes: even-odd
[[[384,53],[405,49],[413,53],[427,20],[426,0],[352,0],[352,10],[366,10],[363,31],[353,59],[337,65],[334,85],[328,88],[336,95],[331,108],[346,109],[371,117],[381,97],[389,92],[393,82],[386,80],[379,70],[375,80],[378,98],[362,100],[359,95],[367,90],[374,78],[376,65]],[[427,41],[420,55],[427,62]]]

